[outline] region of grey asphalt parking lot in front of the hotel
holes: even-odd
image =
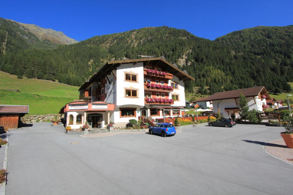
[[[236,125],[166,138],[80,137],[34,123],[10,131],[6,194],[292,194],[293,166],[262,148],[282,130]]]

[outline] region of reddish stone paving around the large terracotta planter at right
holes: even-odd
[[[293,164],[293,149],[287,148],[284,139],[268,141],[265,149],[273,156]]]

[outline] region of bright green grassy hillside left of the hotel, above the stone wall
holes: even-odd
[[[35,79],[18,79],[0,72],[0,104],[29,105],[29,114],[54,114],[66,103],[78,99],[79,87]],[[19,89],[20,92],[2,89]]]

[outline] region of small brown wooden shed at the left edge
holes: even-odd
[[[29,106],[0,105],[0,126],[8,129],[16,129],[20,124],[20,118],[28,112]]]

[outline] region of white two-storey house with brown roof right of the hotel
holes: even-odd
[[[213,102],[214,113],[217,113],[219,108],[224,118],[231,118],[232,116],[239,118],[239,96],[241,92],[246,97],[249,110],[254,108],[263,111],[263,105],[267,104],[266,100],[271,99],[265,87],[261,86],[218,92],[209,96],[205,101]]]

